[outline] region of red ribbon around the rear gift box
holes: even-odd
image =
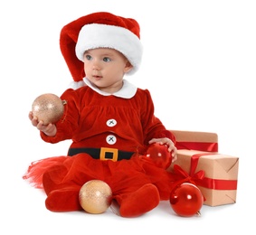
[[[218,152],[218,143],[210,142],[186,142],[177,141],[175,143],[177,149],[200,150],[205,152]]]

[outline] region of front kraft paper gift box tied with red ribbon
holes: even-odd
[[[204,178],[195,184],[206,199],[205,205],[217,206],[236,202],[239,158],[214,152],[177,150],[178,159],[168,170],[179,165],[193,179],[196,173],[204,172]]]

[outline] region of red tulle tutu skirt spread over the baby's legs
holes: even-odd
[[[52,171],[54,169],[54,171]],[[49,174],[49,173],[54,174]],[[88,154],[73,156],[53,156],[33,162],[24,174],[35,188],[43,188],[43,174],[48,173],[51,181],[58,187],[65,185],[82,186],[84,183],[98,179],[109,184],[113,194],[130,193],[142,185],[156,185],[161,200],[168,200],[171,190],[176,184],[175,174],[159,168],[139,155],[129,160],[113,162],[94,159]]]

